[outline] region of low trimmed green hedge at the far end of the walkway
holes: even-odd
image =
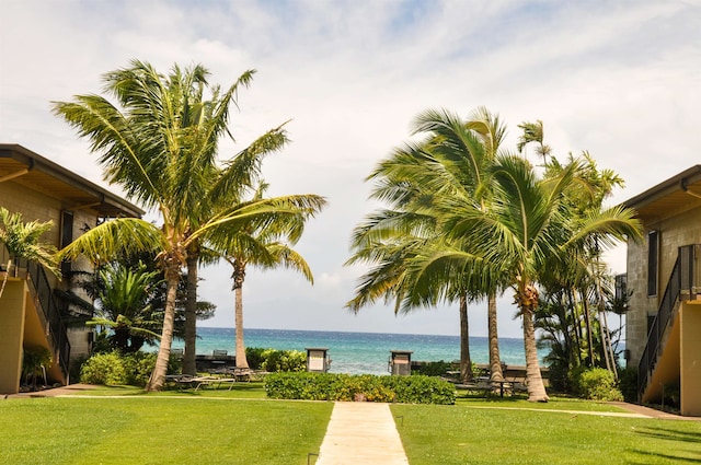
[[[273,373],[265,379],[271,398],[303,400],[367,400],[402,404],[456,402],[451,383],[429,376],[376,376],[371,374]]]

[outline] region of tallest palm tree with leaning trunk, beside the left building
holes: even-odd
[[[260,228],[280,214],[297,214],[299,207],[313,208],[321,199],[290,196],[221,209],[202,221],[200,206],[221,205],[235,197],[249,175],[241,164],[218,166],[220,137],[229,135],[229,109],[240,86],[254,71],[244,72],[230,88],[209,86],[207,70],[177,66],[162,75],[149,63],[134,60],[130,67],[104,75],[101,95],[78,95],[74,102],[54,103],[54,113],[91,141],[110,183],[120,185],[126,196],[160,213],[162,226],[140,219],[116,219],[92,229],[70,244],[65,256],[85,254],[104,257],[117,252],[158,252],[166,282],[163,329],[156,368],[148,391],[162,388],[173,338],[175,297],[188,247],[226,226]],[[211,96],[204,100],[205,90]],[[279,139],[283,128],[258,138],[251,147]],[[253,150],[254,152],[256,150]],[[245,151],[244,151],[245,152]],[[245,159],[245,155],[241,156]],[[215,176],[216,175],[216,176]],[[212,185],[212,176],[216,184]],[[248,187],[248,186],[246,186]],[[212,199],[209,201],[209,199]]]

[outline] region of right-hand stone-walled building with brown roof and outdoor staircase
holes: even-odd
[[[625,347],[642,403],[701,416],[701,165],[624,202],[645,230],[629,242]]]

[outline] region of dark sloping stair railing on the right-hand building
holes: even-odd
[[[671,270],[667,288],[663,294],[657,315],[647,335],[647,344],[637,367],[637,388],[642,396],[662,352],[662,340],[670,324],[674,322],[679,303],[683,300],[696,299],[700,290],[696,287],[696,249],[699,245],[679,247],[677,260]]]

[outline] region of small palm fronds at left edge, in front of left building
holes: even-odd
[[[48,271],[60,277],[56,247],[41,242],[42,235],[48,232],[53,225],[53,221],[30,221],[25,223],[22,219],[22,213],[10,213],[7,208],[0,207],[0,243],[4,244],[9,254],[5,275],[0,288],[0,298],[4,292],[8,276],[12,269],[12,258],[15,260],[27,259],[36,261]]]

